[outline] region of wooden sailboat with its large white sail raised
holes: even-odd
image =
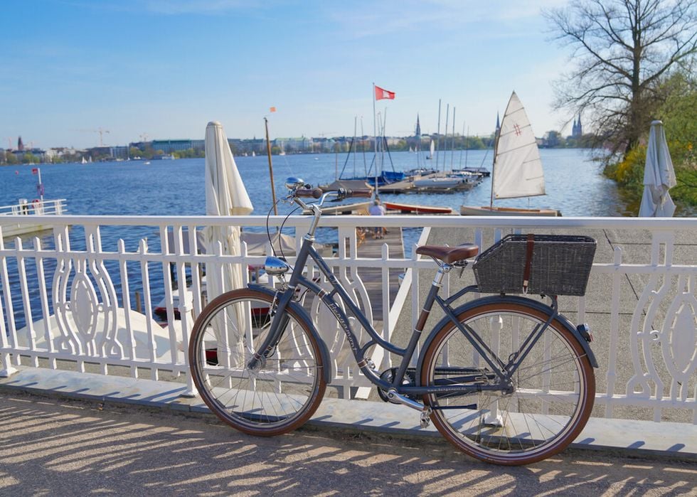
[[[537,141],[525,108],[516,92],[513,92],[501,121],[501,128],[496,132],[494,166],[491,172],[491,203],[484,207],[462,205],[460,214],[561,215],[554,209],[494,207],[495,198],[521,198],[545,194],[545,177]]]

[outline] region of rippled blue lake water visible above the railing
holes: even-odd
[[[417,166],[416,154],[390,154],[396,171]],[[445,160],[444,160],[445,156]],[[555,208],[565,216],[622,215],[624,205],[613,181],[602,176],[600,165],[592,161],[590,151],[582,149],[543,149],[541,157],[547,195],[529,199],[497,201],[506,207]],[[284,179],[303,178],[313,185],[334,181],[341,172],[346,154],[273,156],[277,197],[283,196]],[[366,154],[368,167],[371,155]],[[269,167],[265,156],[236,157],[240,175],[248,189],[255,215],[266,215],[271,207]],[[484,166],[491,169],[491,151],[456,151],[440,153],[439,164]],[[421,161],[435,166],[435,161]],[[18,198],[36,198],[36,166],[0,167],[0,205],[10,205]],[[41,177],[45,198],[65,198],[68,213],[81,215],[203,215],[206,213],[203,159],[176,161],[100,162],[92,164],[44,164]],[[390,160],[385,158],[385,169]],[[344,177],[363,175],[363,156],[349,156]],[[422,205],[445,205],[459,212],[459,206],[489,205],[491,178],[464,193],[381,195],[383,200]],[[280,206],[279,213],[289,207]]]

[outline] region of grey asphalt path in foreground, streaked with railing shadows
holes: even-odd
[[[697,493],[697,465],[565,451],[530,466],[449,444],[301,429],[249,437],[212,417],[0,391],[2,495],[642,495]]]

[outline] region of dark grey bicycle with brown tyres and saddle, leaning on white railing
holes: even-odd
[[[331,361],[299,301],[303,289],[321,299],[339,322],[358,368],[376,385],[380,397],[419,411],[422,427],[433,422],[443,437],[467,454],[496,464],[528,464],[558,453],[578,436],[595,399],[592,336],[586,325],[573,326],[559,314],[556,294],[540,292],[550,299],[546,304],[506,294],[495,281],[493,289],[486,288],[496,277],[486,274],[491,264],[479,262],[501,242],[475,262],[478,284],[447,299],[438,294],[443,277],[454,268],[464,269],[479,247],[417,248],[418,254],[432,257],[438,269],[408,345],[401,348],[385,341],[368,323],[312,246],[326,200],[371,192],[323,192],[297,178],[288,178],[286,186],[285,200],[313,215],[294,267],[267,257],[265,270],[280,280],[277,289],[249,284],[222,294],[203,309],[193,326],[188,356],[193,381],[218,418],[241,432],[270,436],[299,427],[316,411],[331,380]],[[314,201],[306,203],[303,198]],[[528,240],[526,247],[530,246]],[[331,290],[303,276],[308,259]],[[496,257],[492,260],[496,262]],[[584,264],[590,272],[592,255],[590,264],[587,260]],[[526,265],[527,280],[535,275],[528,274],[530,264]],[[538,269],[533,267],[533,272]],[[566,284],[569,278],[557,279]],[[587,275],[585,279],[582,292]],[[496,295],[452,306],[465,294],[486,291]],[[573,291],[580,291],[578,282]],[[423,341],[416,365],[410,366],[435,303],[445,317]],[[358,343],[349,316],[367,331],[367,343]],[[367,358],[373,346],[400,356],[400,363],[379,372]]]

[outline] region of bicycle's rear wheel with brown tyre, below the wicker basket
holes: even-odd
[[[477,306],[458,316],[486,343],[494,363],[508,363],[548,316],[525,304]],[[438,431],[483,461],[518,465],[558,453],[581,432],[595,400],[595,375],[582,346],[554,320],[519,367],[508,391],[425,395]],[[425,351],[423,385],[495,385],[484,356],[449,323]]]

